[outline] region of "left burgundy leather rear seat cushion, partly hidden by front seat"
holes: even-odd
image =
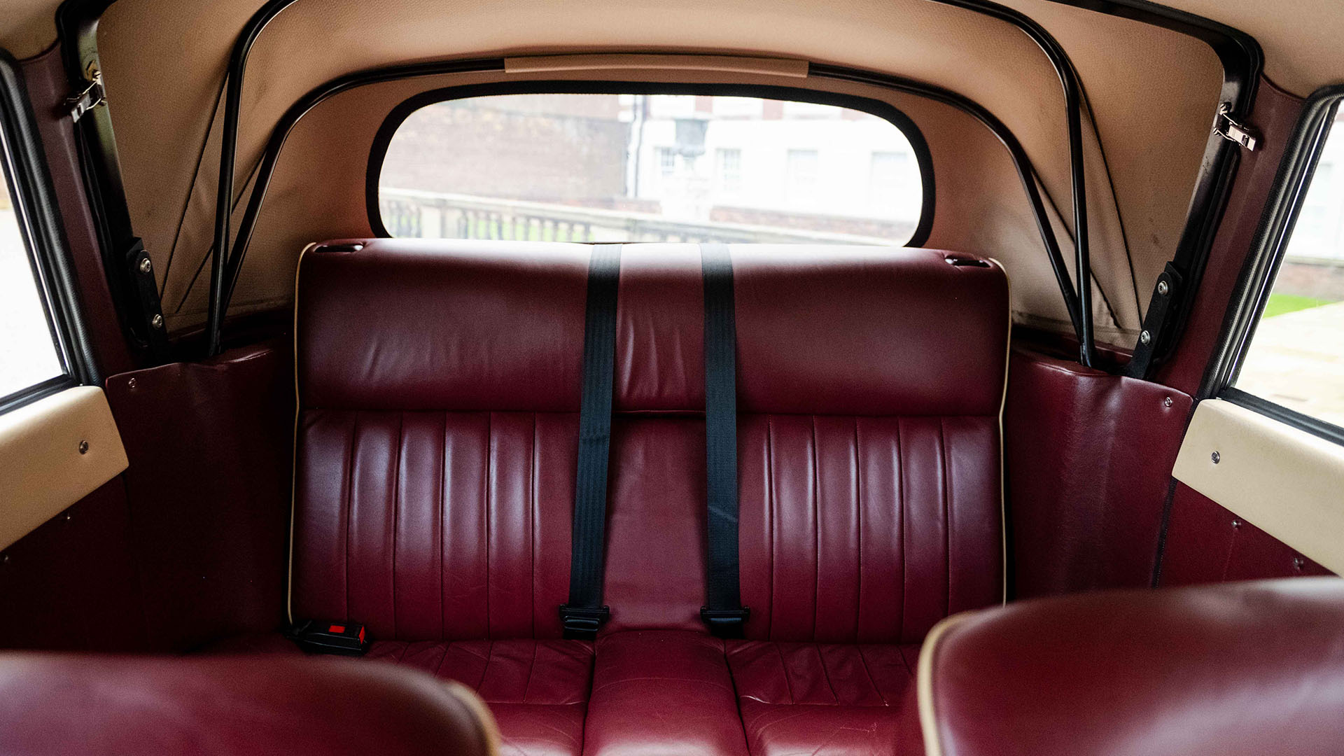
[[[211,654],[300,654],[278,634],[235,638]],[[593,679],[593,644],[585,640],[457,640],[370,644],[363,656],[460,682],[489,704],[501,753],[578,756]]]

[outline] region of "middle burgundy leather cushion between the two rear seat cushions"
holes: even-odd
[[[723,640],[628,631],[597,640],[585,756],[746,756]]]

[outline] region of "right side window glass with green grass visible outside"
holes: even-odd
[[[1328,117],[1232,386],[1344,428],[1344,128]]]

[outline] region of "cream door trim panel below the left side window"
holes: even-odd
[[[0,549],[126,465],[117,422],[98,386],[67,389],[0,414]]]

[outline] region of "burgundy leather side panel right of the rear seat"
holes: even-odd
[[[1188,394],[1015,348],[1011,597],[1148,587]]]

